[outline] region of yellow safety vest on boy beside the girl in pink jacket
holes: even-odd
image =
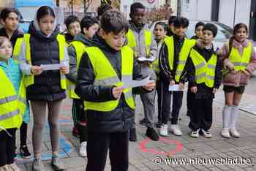
[[[205,83],[209,88],[213,88],[217,55],[212,54],[211,58],[206,62],[205,58],[192,48],[190,58],[195,66],[195,82],[197,84]]]

